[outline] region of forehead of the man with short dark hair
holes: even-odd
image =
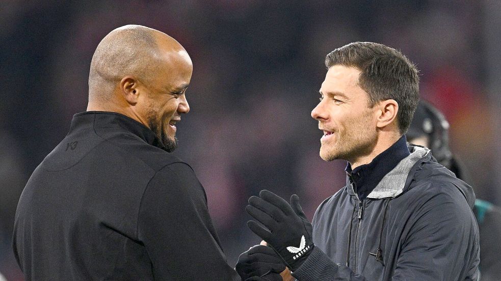
[[[360,70],[354,67],[334,65],[327,71],[320,90],[323,93],[341,92],[348,94],[355,88],[360,89],[358,86],[359,76]]]

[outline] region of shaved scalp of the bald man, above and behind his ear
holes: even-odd
[[[120,80],[132,75],[149,83],[165,52],[184,51],[167,34],[142,25],[125,25],[104,37],[94,52],[89,72],[89,102],[106,102]]]

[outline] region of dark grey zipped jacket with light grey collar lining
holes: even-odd
[[[347,185],[313,217],[315,247],[298,280],[477,280],[473,190],[427,148],[411,154],[363,201]]]

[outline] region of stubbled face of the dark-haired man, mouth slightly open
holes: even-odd
[[[368,155],[377,142],[375,109],[358,86],[360,71],[335,65],[329,68],[320,88],[321,101],[311,111],[324,135],[320,156],[326,161],[345,159],[353,163]]]

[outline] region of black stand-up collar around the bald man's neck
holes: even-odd
[[[140,137],[149,145],[165,150],[155,133],[145,125],[125,115],[108,111],[85,111],[73,115],[70,132],[85,127],[96,129],[122,129]]]

